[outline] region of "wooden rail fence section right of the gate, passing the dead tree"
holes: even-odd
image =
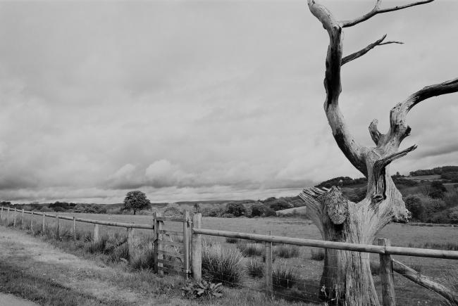
[[[407,267],[405,264],[392,259],[391,255],[405,255],[416,257],[433,257],[450,260],[458,260],[458,251],[453,250],[431,250],[423,248],[403,248],[390,246],[388,239],[379,239],[378,246],[357,243],[342,243],[335,241],[321,241],[314,239],[289,238],[281,236],[271,236],[270,231],[267,235],[238,233],[233,231],[216,231],[213,229],[201,228],[201,215],[196,214],[193,218],[192,227],[192,276],[195,280],[202,279],[202,242],[201,236],[220,236],[227,238],[240,238],[252,241],[261,241],[265,243],[265,270],[264,282],[266,295],[273,293],[272,279],[272,244],[285,243],[295,246],[309,246],[316,248],[333,248],[338,250],[350,250],[355,252],[376,253],[380,255],[380,279],[382,282],[382,302],[383,306],[395,305],[395,283],[393,272],[418,283],[419,285],[438,293],[445,298],[451,305],[458,305],[458,293],[436,283],[428,277],[421,275],[414,269]]]

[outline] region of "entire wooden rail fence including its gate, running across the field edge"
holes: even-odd
[[[414,269],[407,267],[402,262],[392,259],[391,255],[405,255],[416,257],[433,257],[450,260],[458,260],[458,251],[453,250],[431,250],[423,248],[404,248],[390,246],[388,239],[379,239],[378,246],[357,243],[342,243],[335,241],[321,241],[314,239],[289,238],[283,236],[272,236],[270,232],[267,235],[239,233],[233,231],[217,231],[213,229],[202,229],[202,215],[194,214],[190,217],[189,212],[185,212],[182,217],[162,217],[159,212],[154,213],[151,224],[135,224],[108,222],[93,219],[84,219],[78,217],[68,217],[45,212],[31,212],[25,210],[12,210],[11,208],[0,208],[0,219],[6,219],[10,224],[13,218],[13,226],[16,227],[18,212],[21,213],[22,225],[24,224],[24,214],[42,216],[42,230],[45,227],[45,218],[53,217],[56,219],[56,231],[59,231],[59,219],[73,221],[73,237],[76,239],[76,222],[86,222],[94,224],[94,241],[99,240],[99,225],[111,227],[125,227],[128,231],[129,253],[132,254],[133,229],[151,229],[154,230],[154,264],[155,272],[163,274],[166,272],[178,273],[186,278],[192,274],[195,281],[202,279],[202,235],[220,236],[226,238],[240,238],[252,241],[261,241],[265,244],[265,290],[267,295],[273,293],[272,280],[272,244],[285,243],[295,246],[309,246],[316,248],[332,248],[338,250],[349,250],[354,252],[376,253],[380,255],[380,279],[382,281],[382,298],[383,306],[395,305],[395,289],[393,281],[393,272],[418,283],[419,285],[438,293],[452,305],[458,305],[458,293],[436,283],[428,277],[421,275]],[[4,217],[6,213],[6,218]],[[13,214],[13,215],[12,215]],[[172,231],[165,228],[164,222],[182,223],[182,231]],[[30,228],[33,231],[33,218],[30,220]],[[132,253],[131,253],[132,252]],[[180,262],[174,259],[178,258]]]

